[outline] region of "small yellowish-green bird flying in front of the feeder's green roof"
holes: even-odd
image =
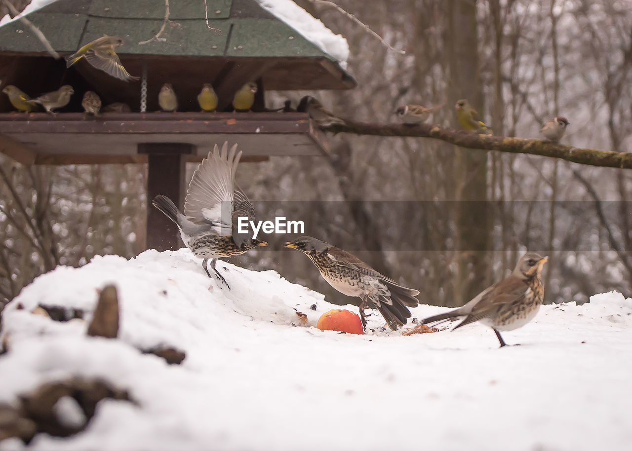
[[[123,39],[118,36],[103,35],[88,44],[83,45],[76,53],[66,56],[66,67],[70,68],[82,58],[97,69],[123,81],[138,80],[125,70],[118,55],[114,51],[116,47],[123,45]]]

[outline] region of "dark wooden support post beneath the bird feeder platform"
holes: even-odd
[[[138,153],[147,154],[147,249],[176,250],[183,246],[178,226],[152,205],[162,194],[183,211],[186,195],[186,159],[194,146],[187,143],[140,143]]]

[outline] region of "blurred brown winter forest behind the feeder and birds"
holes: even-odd
[[[538,138],[560,114],[571,123],[564,143],[631,144],[632,0],[336,0],[405,55],[327,4],[296,3],[349,42],[358,88],[310,93],[338,116],[387,122],[401,104],[440,105],[432,121],[456,127],[454,103],[467,98],[495,135]],[[267,93],[267,106],[305,94]],[[304,220],[306,234],[419,289],[421,303],[465,303],[527,249],[550,256],[549,303],[629,296],[632,172],[424,138],[330,139],[331,157],[240,165],[260,219]],[[23,167],[0,157],[0,170],[0,304],[56,265],[143,251],[143,165]],[[266,237],[272,248],[231,261],[355,302],[283,250],[291,238]]]

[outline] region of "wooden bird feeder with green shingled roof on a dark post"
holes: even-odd
[[[355,87],[334,57],[255,0],[178,0],[165,19],[164,0],[58,0],[25,16],[62,56],[104,34],[121,37],[121,63],[138,81],[121,81],[80,61],[66,68],[20,20],[0,27],[0,79],[31,97],[71,85],[75,94],[56,116],[18,113],[0,94],[0,152],[23,164],[149,164],[147,196],[164,194],[183,207],[186,162],[199,162],[214,143],[239,143],[244,161],[271,155],[319,155],[327,141],[305,113],[267,112],[269,90]],[[205,20],[208,15],[208,25]],[[161,27],[159,39],[152,39]],[[215,30],[211,29],[214,28]],[[141,42],[150,40],[145,44]],[[252,112],[226,112],[234,93],[256,81]],[[157,112],[171,83],[178,112]],[[197,94],[212,83],[217,112],[200,112]],[[83,114],[83,93],[131,112]],[[150,205],[150,203],[148,203]],[[179,247],[176,226],[147,212],[147,247]]]

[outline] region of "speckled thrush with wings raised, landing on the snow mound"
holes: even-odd
[[[215,268],[217,258],[240,255],[268,243],[252,238],[251,234],[238,233],[238,218],[256,221],[255,210],[248,197],[234,182],[241,151],[237,145],[221,150],[215,145],[213,152],[202,160],[193,172],[186,189],[185,213],[167,196],[155,196],[153,205],[176,223],[185,246],[195,256],[204,258],[202,267],[209,277],[207,262],[228,289],[228,283]]]

